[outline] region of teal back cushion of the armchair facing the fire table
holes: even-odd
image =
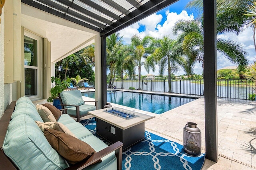
[[[84,100],[80,90],[63,91],[60,93],[60,98],[63,104],[67,105],[83,105]],[[67,106],[73,107],[73,106]]]

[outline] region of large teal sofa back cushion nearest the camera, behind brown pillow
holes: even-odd
[[[10,121],[3,150],[19,169],[62,170],[68,167],[35,121],[26,114],[17,115]]]

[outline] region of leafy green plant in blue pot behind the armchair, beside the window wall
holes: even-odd
[[[52,77],[52,83],[55,82],[55,86],[51,88],[52,96],[47,99],[47,102],[53,102],[53,106],[61,109],[59,93],[62,92],[70,85],[71,79],[67,78],[66,80],[60,80],[60,78]]]

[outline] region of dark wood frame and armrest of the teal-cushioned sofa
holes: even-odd
[[[4,111],[4,114],[2,115],[2,118],[0,120],[0,170],[8,169],[8,170],[17,170],[18,168],[15,166],[15,164],[4,154],[4,151],[2,149],[4,144],[4,138],[7,132],[7,128],[11,119],[12,112],[14,111],[16,106],[16,102],[12,102]],[[81,162],[78,162],[74,165],[70,164],[70,167],[66,168],[65,170],[82,170],[83,168],[86,168],[87,166],[93,164],[97,160],[101,159],[102,157],[106,156],[107,154],[115,151],[116,152],[116,158],[117,158],[117,169],[122,170],[122,148],[123,143],[120,141],[110,145],[109,147],[100,150],[99,152],[96,152],[93,154],[88,160],[84,160]]]

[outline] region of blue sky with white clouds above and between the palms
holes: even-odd
[[[130,38],[133,35],[139,35],[143,38],[145,35],[151,35],[156,38],[161,38],[163,35],[169,35],[170,38],[176,39],[176,36],[172,35],[172,27],[174,23],[179,19],[191,19],[194,20],[198,17],[196,10],[185,8],[186,4],[190,0],[180,0],[167,8],[164,8],[147,18],[144,18],[129,27],[119,31],[120,35],[123,36],[125,43],[130,43]],[[222,35],[217,35],[219,38],[230,39],[236,41],[243,45],[244,49],[248,52],[248,60],[250,63],[255,60],[256,53],[254,51],[253,45],[253,31],[252,28],[246,28],[240,35],[235,35],[234,33],[226,33]],[[202,74],[201,63],[197,63],[194,66],[194,73]],[[235,64],[230,63],[225,57],[217,52],[217,70],[225,66],[234,66]],[[138,74],[138,68],[136,69]],[[174,74],[181,75],[185,72],[181,70]],[[148,72],[142,66],[142,75],[146,75]],[[150,74],[158,75],[158,66],[156,66],[156,71],[150,71]],[[167,69],[165,75],[167,75]]]

